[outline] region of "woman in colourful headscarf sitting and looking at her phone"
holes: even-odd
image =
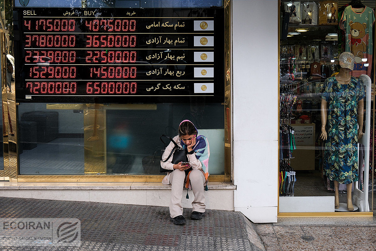
[[[208,184],[208,163],[209,163],[209,143],[205,136],[198,135],[196,127],[189,120],[183,120],[179,125],[179,135],[173,140],[177,145],[185,149],[189,160],[189,165],[171,163],[173,156],[166,161],[161,161],[164,169],[171,170],[164,177],[162,183],[171,184],[170,220],[176,225],[185,224],[182,207],[183,186],[193,190],[194,200],[192,202],[191,219],[202,219],[205,214],[204,187]],[[162,160],[166,160],[173,150],[174,144],[170,142],[167,146]],[[185,170],[192,168],[188,174],[186,182]],[[205,168],[205,172],[203,171]],[[207,187],[206,187],[207,190]],[[188,191],[187,191],[188,192]]]

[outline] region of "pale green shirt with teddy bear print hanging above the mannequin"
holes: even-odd
[[[374,11],[367,6],[355,9],[350,5],[342,14],[340,28],[345,31],[345,51],[351,52],[355,56],[352,76],[358,77],[362,74],[371,76],[374,20]],[[367,61],[363,62],[362,58],[366,58]]]

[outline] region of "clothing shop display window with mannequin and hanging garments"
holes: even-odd
[[[280,10],[279,211],[369,211],[374,11],[337,1]]]

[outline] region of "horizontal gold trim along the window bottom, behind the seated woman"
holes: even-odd
[[[162,182],[165,175],[18,175],[18,182]],[[209,182],[224,182],[210,175]]]

